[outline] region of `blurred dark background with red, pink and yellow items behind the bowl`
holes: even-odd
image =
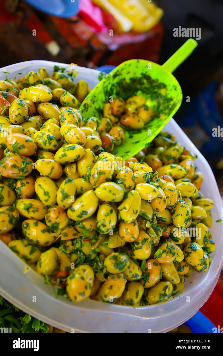
[[[209,162],[223,196],[223,132],[213,137],[213,128],[223,127],[222,19],[223,0],[1,0],[0,67],[45,59],[109,73],[128,59],[163,64],[196,39],[174,73],[183,91],[174,119]],[[201,308],[215,325],[223,323],[215,308],[222,302],[221,276]]]

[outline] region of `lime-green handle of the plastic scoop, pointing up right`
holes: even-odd
[[[193,50],[197,47],[197,41],[189,38],[183,45],[177,49],[173,55],[167,59],[167,61],[162,65],[167,72],[173,73],[175,69],[180,66],[182,62],[190,56]]]

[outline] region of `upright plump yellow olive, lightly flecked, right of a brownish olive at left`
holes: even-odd
[[[44,205],[52,206],[57,201],[57,186],[48,177],[38,177],[35,182],[35,192]]]

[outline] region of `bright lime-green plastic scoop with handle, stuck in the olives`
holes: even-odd
[[[90,91],[81,105],[85,119],[103,117],[104,103],[112,98],[127,100],[132,95],[146,98],[146,106],[154,112],[154,118],[142,129],[125,129],[125,142],[114,146],[111,153],[124,160],[136,155],[148,146],[179,109],[182,90],[171,74],[197,47],[193,39],[187,40],[162,66],[143,59],[131,59],[121,63]],[[119,125],[117,123],[116,125]]]

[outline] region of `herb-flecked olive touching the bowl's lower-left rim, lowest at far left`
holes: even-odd
[[[14,240],[9,242],[8,246],[16,255],[29,263],[37,262],[41,255],[40,249],[27,240]]]

